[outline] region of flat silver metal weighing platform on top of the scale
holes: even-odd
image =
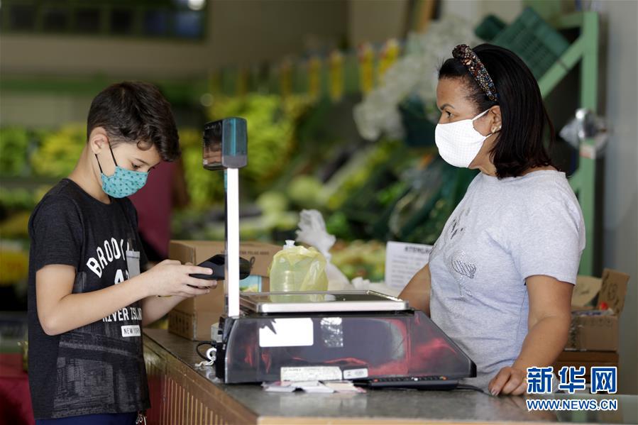
[[[374,291],[243,292],[243,311],[261,314],[405,311],[407,301]]]

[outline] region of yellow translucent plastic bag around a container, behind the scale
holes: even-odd
[[[325,291],[328,289],[326,258],[315,248],[286,241],[270,265],[270,291]]]

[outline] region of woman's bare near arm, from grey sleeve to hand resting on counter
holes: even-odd
[[[569,334],[573,285],[545,275],[527,278],[529,332],[518,358],[502,368],[490,382],[490,392],[523,394],[527,390],[527,368],[549,366],[558,358]]]

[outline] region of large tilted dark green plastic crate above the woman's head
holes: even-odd
[[[569,42],[533,9],[527,8],[492,43],[512,50],[539,79],[569,47]]]

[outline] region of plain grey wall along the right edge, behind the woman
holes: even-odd
[[[620,318],[620,392],[638,394],[638,31],[636,1],[600,1],[610,128],[605,153],[603,265],[629,273]]]

